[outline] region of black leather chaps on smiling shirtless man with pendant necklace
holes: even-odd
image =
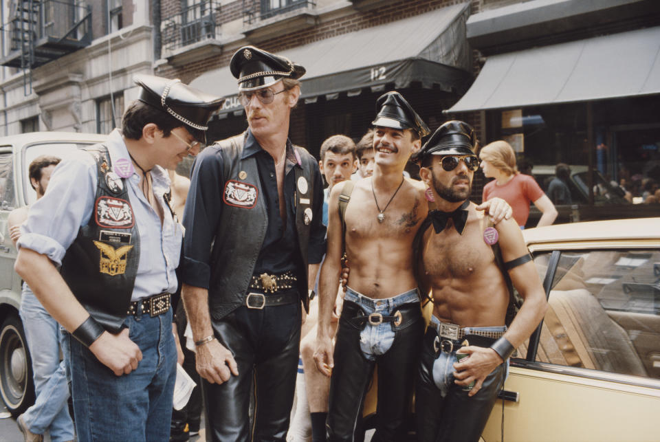
[[[398,327],[385,324],[395,331],[394,343],[386,353],[371,361],[360,349],[360,332],[365,324],[356,324],[353,320],[364,313],[355,303],[344,302],[330,382],[328,441],[362,440],[362,407],[375,364],[378,364],[377,423],[371,440],[403,440],[421,348],[423,318],[419,303],[402,305],[396,310],[402,313],[401,324]]]

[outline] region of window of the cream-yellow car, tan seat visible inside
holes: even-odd
[[[562,252],[536,361],[660,379],[660,250]]]

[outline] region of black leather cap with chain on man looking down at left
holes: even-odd
[[[195,135],[206,131],[211,113],[221,107],[224,99],[184,85],[178,78],[136,75],[133,80],[142,87],[138,100],[169,113],[184,123]]]

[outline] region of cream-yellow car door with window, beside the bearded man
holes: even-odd
[[[622,242],[533,254],[549,307],[511,359],[500,397],[517,401],[497,402],[486,442],[660,439],[660,247]]]

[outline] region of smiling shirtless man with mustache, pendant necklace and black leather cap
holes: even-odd
[[[397,92],[378,98],[375,170],[355,183],[342,230],[339,203],[347,182],[333,187],[329,202],[328,247],[319,283],[319,324],[315,359],[331,375],[329,441],[360,439],[364,395],[378,364],[377,423],[373,440],[401,441],[417,368],[424,321],[413,271],[412,241],[428,206],[421,181],[403,175],[419,151],[428,127]],[[495,203],[494,203],[495,202]],[[479,206],[509,207],[502,200]],[[351,275],[336,335],[329,327],[341,270],[342,246]]]

